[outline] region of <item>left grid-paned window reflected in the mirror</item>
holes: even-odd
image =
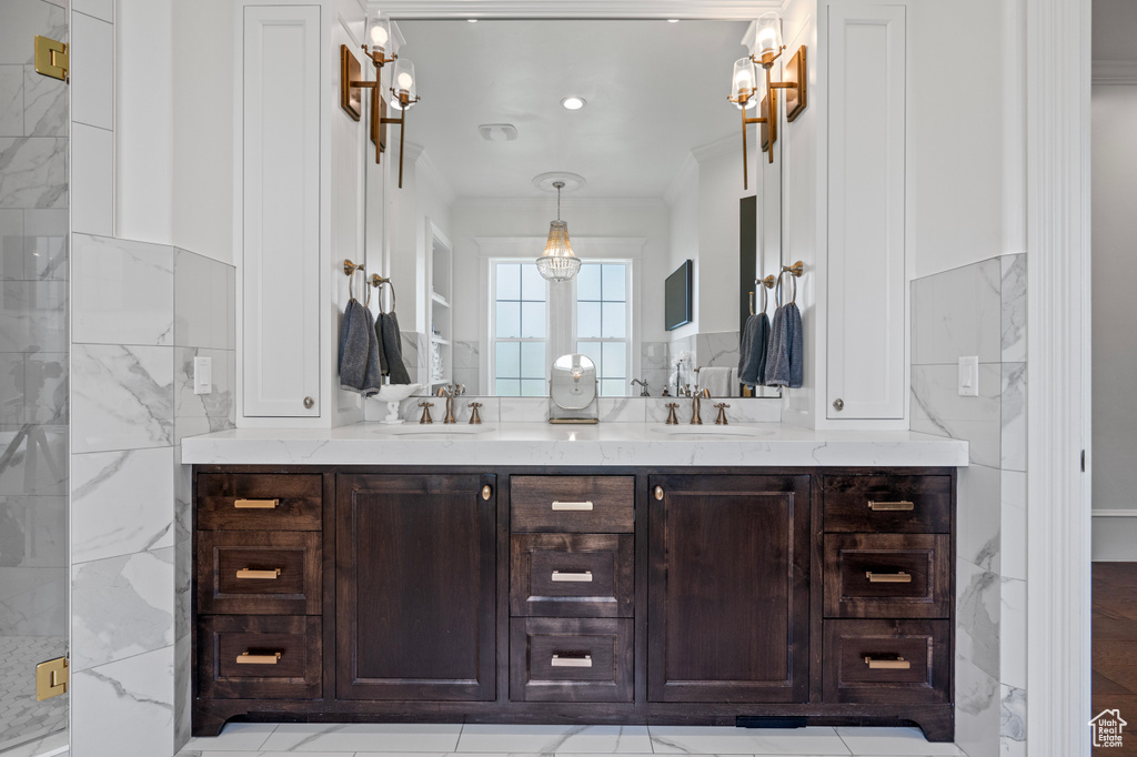
[[[548,285],[532,261],[493,264],[493,366],[498,397],[548,394]]]

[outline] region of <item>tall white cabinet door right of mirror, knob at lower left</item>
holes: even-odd
[[[829,8],[828,417],[904,417],[905,8]],[[840,409],[838,409],[840,408]]]

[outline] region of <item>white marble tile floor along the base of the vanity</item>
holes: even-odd
[[[798,730],[637,725],[449,725],[233,723],[191,739],[177,757],[442,757],[443,755],[800,755],[931,757],[963,755],[916,729]]]

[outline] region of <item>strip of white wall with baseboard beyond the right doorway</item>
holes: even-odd
[[[1094,86],[1094,509],[1137,514],[1137,85]],[[1096,517],[1094,559],[1137,558],[1137,517]]]

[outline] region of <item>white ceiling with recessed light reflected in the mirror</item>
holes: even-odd
[[[727,101],[747,22],[401,20],[422,102],[407,140],[458,197],[524,198],[532,178],[581,174],[576,194],[661,198],[692,148],[737,135]],[[575,94],[588,105],[561,106]],[[480,124],[509,123],[514,142]],[[753,127],[752,127],[753,128]],[[392,132],[397,138],[397,132]]]

